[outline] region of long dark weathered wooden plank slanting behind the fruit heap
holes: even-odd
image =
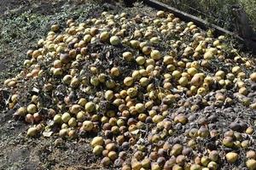
[[[177,8],[172,8],[171,6],[167,5],[166,3],[160,3],[159,1],[156,0],[143,0],[143,3],[147,4],[150,7],[153,8],[158,8],[162,10],[168,10],[178,18],[184,21],[192,21],[195,23],[196,26],[201,27],[202,29],[208,29],[208,28],[213,28],[215,30],[216,36],[227,34],[230,35],[231,37],[235,37],[238,42],[244,43],[244,39],[242,37],[237,36],[231,31],[227,31],[224,28],[220,26],[213,25],[206,20],[202,20],[201,18],[198,18],[192,14],[187,14],[184,13],[183,11],[178,10]]]

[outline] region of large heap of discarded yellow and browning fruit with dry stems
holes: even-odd
[[[4,85],[28,137],[93,136],[122,170],[256,169],[255,60],[224,36],[164,11],[103,12],[51,26],[27,57]]]

